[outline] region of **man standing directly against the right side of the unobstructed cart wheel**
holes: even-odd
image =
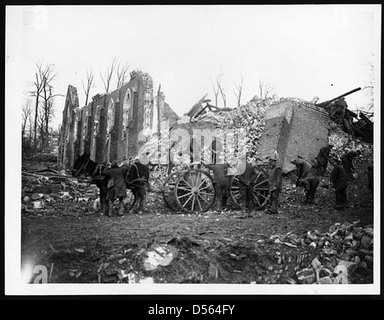
[[[216,192],[216,210],[221,211],[227,204],[229,194],[229,176],[227,175],[229,164],[209,164],[207,167],[213,171],[213,186]]]

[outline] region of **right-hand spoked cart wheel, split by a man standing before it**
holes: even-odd
[[[232,176],[229,181],[232,201],[241,209],[246,208],[245,194],[241,190],[242,184],[237,176]],[[262,210],[268,201],[269,185],[268,174],[264,170],[258,170],[253,182],[253,207]]]

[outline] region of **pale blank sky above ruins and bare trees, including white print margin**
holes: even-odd
[[[54,92],[65,95],[73,85],[82,106],[87,68],[95,73],[91,96],[103,93],[99,74],[116,57],[129,71],[149,73],[154,93],[161,84],[179,115],[206,93],[214,101],[211,80],[219,73],[228,107],[236,106],[241,77],[243,104],[258,94],[259,80],[279,97],[324,101],[373,80],[380,12],[378,5],[11,6],[7,86],[23,100],[36,64],[53,64]],[[357,92],[347,103],[361,108],[368,96]],[[64,97],[56,98],[57,124],[63,108]]]

